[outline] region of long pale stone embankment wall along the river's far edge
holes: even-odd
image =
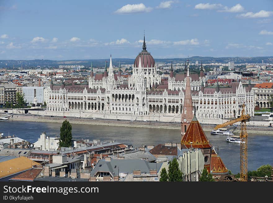
[[[143,121],[117,121],[117,120],[101,120],[101,119],[79,119],[79,118],[63,118],[63,117],[47,117],[14,114],[10,121],[28,121],[28,122],[51,122],[62,123],[68,120],[71,124],[86,125],[104,125],[104,126],[120,126],[120,127],[136,127],[136,128],[156,128],[156,129],[174,129],[180,130],[180,123],[163,123],[163,122],[143,122]],[[213,125],[202,125],[204,131],[211,131]],[[239,133],[240,126],[234,131]],[[253,134],[273,135],[273,129],[269,127],[247,126],[247,132]]]

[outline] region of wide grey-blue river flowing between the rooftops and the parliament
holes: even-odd
[[[102,125],[72,125],[73,139],[99,139],[102,142],[116,140],[134,147],[143,144],[158,145],[167,141],[180,142],[180,130],[116,127]],[[166,125],[166,124],[163,124]],[[61,123],[8,121],[0,122],[0,133],[15,135],[36,142],[45,131],[48,136],[60,136]],[[205,132],[210,143],[217,148],[226,167],[233,173],[240,171],[240,145],[226,142],[226,136]],[[248,134],[248,170],[257,170],[263,164],[273,163],[273,136]]]

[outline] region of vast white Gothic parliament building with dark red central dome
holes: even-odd
[[[163,80],[156,71],[154,58],[146,50],[145,36],[142,48],[128,80],[123,80],[120,69],[114,73],[110,57],[108,70],[106,65],[104,73],[94,74],[92,69],[88,84],[51,82],[45,89],[46,112],[124,120],[180,121],[189,65],[185,64],[185,71],[177,74],[171,66],[168,80]],[[242,104],[246,105],[246,113],[254,115],[254,93],[250,84],[243,86],[241,82],[230,82],[229,86],[217,83],[206,87],[201,65],[199,75],[190,73],[190,85],[199,119],[214,122],[237,118]]]

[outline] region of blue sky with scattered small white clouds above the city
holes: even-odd
[[[273,0],[4,1],[0,60],[273,56]]]

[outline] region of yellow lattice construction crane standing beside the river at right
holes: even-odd
[[[244,111],[245,105],[242,105],[241,117],[235,118],[231,121],[217,125],[214,130],[219,128],[232,125],[237,122],[241,122],[241,131],[240,131],[240,181],[247,181],[247,131],[246,131],[246,122],[249,121],[250,116]]]

